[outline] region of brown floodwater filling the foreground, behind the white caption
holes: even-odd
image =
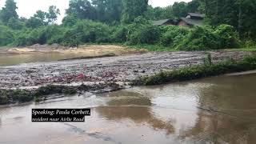
[[[226,75],[0,108],[0,143],[256,143],[256,74]],[[91,108],[32,123],[32,108]]]

